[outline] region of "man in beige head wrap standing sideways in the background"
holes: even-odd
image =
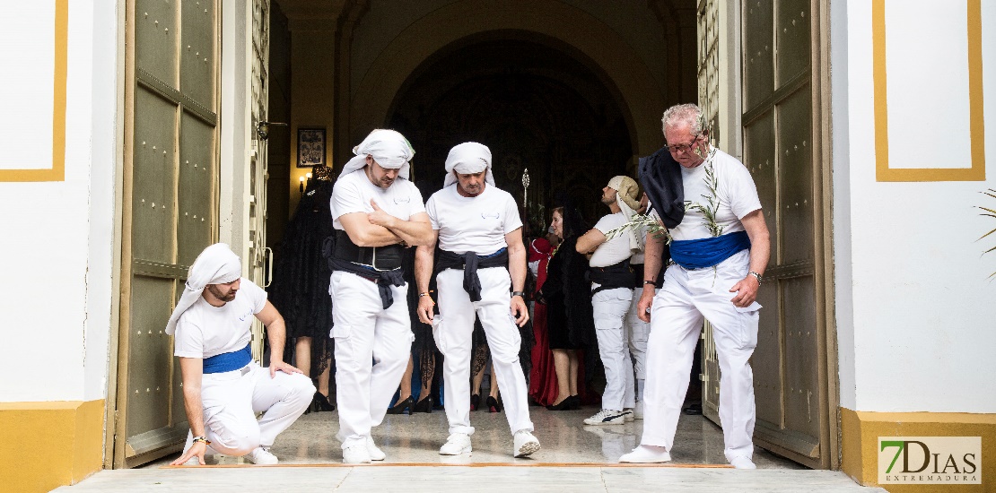
[[[606,369],[606,389],[602,409],[585,419],[585,424],[622,424],[633,419],[632,361],[625,336],[625,314],[632,301],[632,269],[629,257],[639,249],[639,239],[631,229],[608,239],[606,235],[625,224],[639,208],[639,186],[628,176],[615,176],[602,189],[602,203],[611,214],[578,238],[578,253],[591,254],[589,279],[592,281],[592,311],[599,356]]]

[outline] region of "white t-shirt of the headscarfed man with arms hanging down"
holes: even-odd
[[[491,255],[508,246],[505,235],[522,227],[512,194],[492,184],[475,197],[456,191],[457,183],[439,190],[425,203],[439,248],[447,252]]]

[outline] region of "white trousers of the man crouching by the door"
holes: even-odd
[[[304,413],[313,395],[311,378],[283,371],[271,378],[270,369],[255,362],[242,370],[204,373],[200,401],[209,452],[239,456],[273,445],[277,435]],[[263,412],[258,420],[257,412]],[[192,440],[188,433],[184,451]]]

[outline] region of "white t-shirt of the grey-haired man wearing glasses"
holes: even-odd
[[[706,182],[707,165],[708,163],[702,163],[691,169],[681,167],[685,215],[681,224],[670,230],[671,238],[675,240],[697,240],[712,236],[702,212],[688,207],[687,204],[690,200],[708,206],[706,197],[711,196],[711,192]],[[754,178],[742,162],[722,150],[716,150],[712,158],[712,167],[718,184],[716,195],[719,198],[716,224],[723,227],[723,234],[743,231],[740,219],[761,208]]]

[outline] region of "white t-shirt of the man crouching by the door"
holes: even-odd
[[[176,322],[173,355],[211,358],[231,353],[249,344],[253,316],[266,307],[266,291],[242,278],[235,299],[220,307],[199,298]]]

